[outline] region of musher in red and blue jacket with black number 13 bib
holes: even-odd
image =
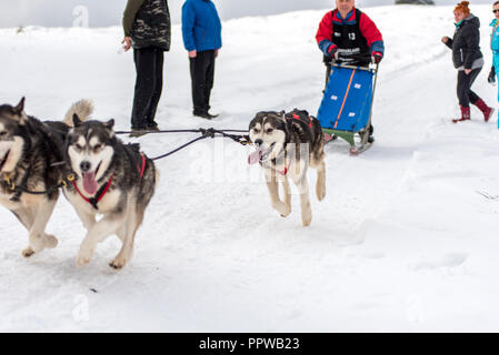
[[[326,13],[319,24],[316,41],[325,54],[327,77],[331,61],[368,67],[379,63],[385,54],[385,42],[375,22],[356,7],[355,0],[336,0],[336,9]],[[369,142],[373,142],[372,124]]]

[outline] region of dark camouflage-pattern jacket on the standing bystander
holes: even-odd
[[[123,31],[134,49],[158,47],[169,51],[171,21],[167,0],[128,0]]]

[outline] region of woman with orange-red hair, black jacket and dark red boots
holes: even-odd
[[[480,21],[468,8],[469,1],[461,1],[453,10],[456,32],[453,38],[443,37],[442,42],[452,50],[452,62],[458,70],[457,93],[461,118],[452,122],[470,120],[470,102],[482,113],[487,122],[493,109],[489,108],[472,90],[471,85],[483,67],[483,55],[480,51]]]

